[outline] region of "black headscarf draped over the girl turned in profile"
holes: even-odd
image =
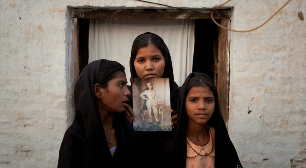
[[[89,63],[80,74],[75,90],[75,119],[63,137],[58,159],[58,168],[117,168],[134,166],[132,159],[135,146],[135,131],[124,113],[115,113],[113,126],[117,148],[112,157],[105,138],[94,85],[99,67],[107,60]],[[136,151],[136,150],[135,150]]]

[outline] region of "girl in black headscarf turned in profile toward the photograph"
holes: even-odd
[[[126,104],[130,91],[124,70],[105,59],[83,69],[74,90],[75,119],[63,137],[58,168],[135,167],[133,158],[142,153],[137,150],[140,138],[123,113],[132,110]]]

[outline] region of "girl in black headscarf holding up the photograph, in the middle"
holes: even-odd
[[[169,78],[170,103],[171,103],[171,125],[176,122],[177,98],[179,87],[174,82],[173,68],[170,52],[165,42],[156,34],[147,32],[139,35],[133,42],[130,58],[131,84],[135,78]],[[132,92],[132,87],[129,87]],[[133,107],[132,95],[129,96],[130,106]],[[174,111],[174,112],[173,112]],[[173,136],[174,131],[143,132],[147,139],[142,139],[148,145],[150,168],[163,167],[160,158],[162,144],[165,138]]]

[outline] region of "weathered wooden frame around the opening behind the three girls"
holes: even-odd
[[[170,9],[87,9],[68,7],[70,11],[70,39],[68,46],[68,126],[74,118],[74,86],[79,77],[79,19],[211,19],[209,10]],[[214,19],[222,26],[230,25],[230,9],[215,10]],[[219,28],[215,50],[214,81],[218,89],[222,117],[228,123],[229,105],[229,31]]]

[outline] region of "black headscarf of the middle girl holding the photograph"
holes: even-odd
[[[170,55],[169,49],[167,45],[165,44],[165,42],[161,39],[161,37],[151,32],[147,32],[147,33],[137,36],[137,38],[133,42],[133,45],[139,39],[139,37],[144,36],[144,35],[156,36],[163,43],[163,46],[161,48],[157,46],[165,58],[165,69],[164,69],[164,72],[161,78],[169,78],[171,109],[177,111],[177,95],[178,95],[179,87],[174,81],[173,67],[172,67],[172,61],[171,61],[171,55]],[[132,51],[131,51],[131,57],[130,57],[131,84],[133,84],[134,78],[139,78],[137,76],[135,66],[134,66],[134,61],[135,61],[138,49],[139,48],[136,48],[136,50],[133,50],[132,48]]]

